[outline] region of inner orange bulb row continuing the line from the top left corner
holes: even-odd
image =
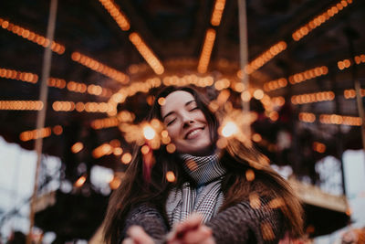
[[[117,69],[112,69],[109,66],[106,66],[106,65],[100,63],[99,61],[97,61],[93,58],[89,58],[88,56],[83,55],[79,52],[73,52],[71,55],[71,58],[75,62],[78,62],[79,64],[82,64],[82,65],[88,67],[89,69],[92,69],[107,77],[110,77],[110,79],[112,79],[112,80],[120,81],[120,83],[125,84],[130,80],[129,77],[126,74],[124,74],[123,72],[120,72]]]

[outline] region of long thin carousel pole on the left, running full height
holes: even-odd
[[[55,27],[56,27],[56,16],[57,16],[57,0],[51,0],[49,6],[49,17],[48,17],[48,26],[47,26],[47,40],[48,45],[45,48],[45,53],[43,56],[43,67],[42,67],[42,80],[40,83],[40,101],[43,102],[43,108],[38,112],[36,118],[36,130],[39,130],[45,127],[46,120],[46,110],[47,110],[47,80],[49,78],[49,73],[51,69],[51,60],[52,60],[52,50],[51,45],[53,42]],[[38,189],[38,176],[40,171],[40,162],[42,158],[42,144],[43,139],[38,136],[36,138],[36,176],[35,176],[35,184],[33,188],[33,195],[30,200],[30,213],[29,213],[29,233],[26,238],[26,244],[32,243],[32,229],[34,226],[34,218],[35,218],[35,207],[36,207],[36,195]]]

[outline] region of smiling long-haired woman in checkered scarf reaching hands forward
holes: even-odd
[[[165,88],[152,119],[164,124],[176,152],[154,150],[147,181],[141,148],[135,150],[110,197],[107,243],[276,243],[301,234],[302,208],[287,182],[234,137],[217,150],[219,122],[196,90]]]

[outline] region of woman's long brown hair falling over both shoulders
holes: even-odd
[[[215,144],[218,138],[218,119],[209,110],[208,100],[191,87],[169,86],[164,88],[156,96],[147,120],[162,120],[161,105],[157,101],[176,90],[184,90],[193,95],[197,106],[203,111],[208,122],[211,139]],[[144,167],[141,146],[135,147],[132,161],[123,176],[120,187],[110,196],[110,203],[104,220],[104,240],[107,243],[116,243],[120,239],[120,232],[131,206],[149,202],[165,216],[164,206],[171,187],[181,186],[184,181],[191,180],[189,175],[186,175],[183,171],[183,162],[178,154],[169,154],[162,146],[160,149],[153,151],[153,156],[156,164],[153,165],[150,181],[146,184],[142,176]],[[238,140],[228,141],[222,152],[221,159],[222,164],[227,169],[227,175],[224,176],[222,183],[225,200],[221,210],[248,199],[252,193],[260,196],[270,196],[273,199],[276,197],[284,203],[280,208],[285,217],[287,230],[291,236],[296,237],[302,231],[301,205],[287,182],[267,165],[262,164],[260,162],[261,158],[263,156],[255,149],[247,148]],[[255,181],[247,181],[245,172],[248,169],[255,174]],[[169,171],[172,171],[176,176],[174,183],[166,180],[166,174]]]

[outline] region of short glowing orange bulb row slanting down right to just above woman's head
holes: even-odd
[[[156,74],[161,75],[164,72],[162,62],[153,54],[151,48],[147,46],[138,33],[133,32],[130,34],[130,42],[137,48]]]

